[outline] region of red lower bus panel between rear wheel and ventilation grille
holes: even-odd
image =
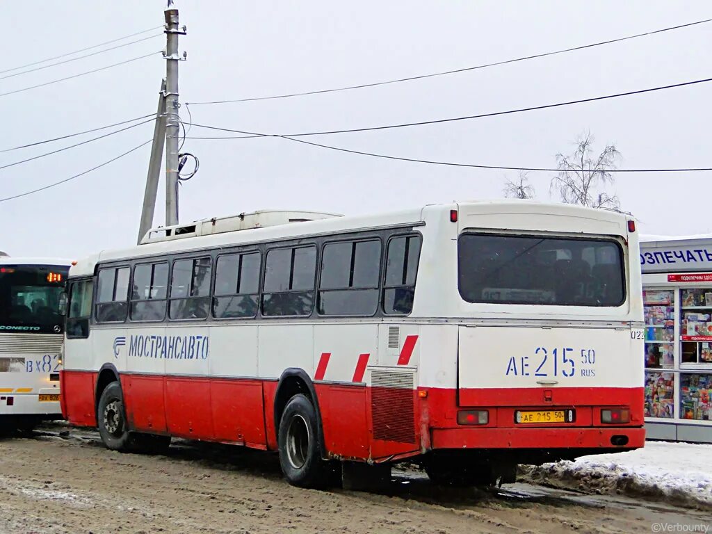
[[[317,384],[316,394],[328,454],[342,459],[368,459],[366,388]]]

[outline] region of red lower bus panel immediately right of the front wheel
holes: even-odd
[[[161,376],[121,375],[126,417],[132,429],[167,432],[163,388]]]

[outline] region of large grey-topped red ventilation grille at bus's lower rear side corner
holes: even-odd
[[[371,371],[373,437],[415,443],[413,375]]]

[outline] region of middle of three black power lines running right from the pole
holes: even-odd
[[[567,102],[559,102],[559,103],[555,103],[555,104],[537,105],[537,106],[531,106],[530,108],[518,108],[515,110],[481,113],[479,115],[466,115],[465,117],[450,117],[447,119],[422,120],[419,122],[406,122],[403,124],[371,126],[371,127],[363,127],[363,128],[350,128],[347,130],[324,130],[321,132],[300,132],[300,133],[294,133],[294,134],[276,135],[276,134],[257,134],[255,132],[246,132],[244,130],[231,130],[229,128],[219,128],[219,127],[214,127],[214,126],[199,125],[196,123],[192,123],[192,125],[195,127],[199,127],[199,128],[206,128],[209,130],[221,130],[223,132],[234,132],[234,133],[244,134],[244,136],[243,136],[244,138],[269,137],[269,136],[273,136],[273,137],[306,137],[306,136],[310,136],[310,135],[329,135],[329,134],[340,134],[340,133],[351,133],[351,132],[371,132],[373,130],[389,130],[392,128],[424,126],[424,125],[431,125],[431,124],[439,124],[441,122],[455,122],[455,121],[459,121],[459,120],[481,119],[483,117],[496,117],[498,115],[511,115],[513,113],[520,113],[520,112],[525,112],[525,111],[535,111],[535,110],[545,110],[545,109],[549,109],[549,108],[559,108],[559,107],[565,106],[565,105],[582,104],[582,103],[587,103],[587,102],[595,102],[597,100],[607,100],[609,98],[619,98],[619,97],[630,96],[630,95],[640,95],[642,93],[651,93],[653,91],[679,88],[679,87],[684,87],[686,85],[695,85],[697,83],[707,83],[710,81],[712,81],[712,78],[704,78],[703,80],[693,80],[691,82],[675,83],[672,85],[662,85],[659,87],[654,87],[654,88],[649,88],[649,89],[639,89],[639,90],[634,90],[634,91],[628,91],[627,93],[616,93],[614,95],[604,95],[604,96],[597,96],[597,97],[593,97],[593,98],[582,98],[580,100],[569,100]],[[194,137],[189,137],[189,139],[194,139]]]

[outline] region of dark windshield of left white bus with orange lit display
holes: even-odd
[[[63,332],[59,313],[69,269],[64,266],[0,266],[0,332]]]

